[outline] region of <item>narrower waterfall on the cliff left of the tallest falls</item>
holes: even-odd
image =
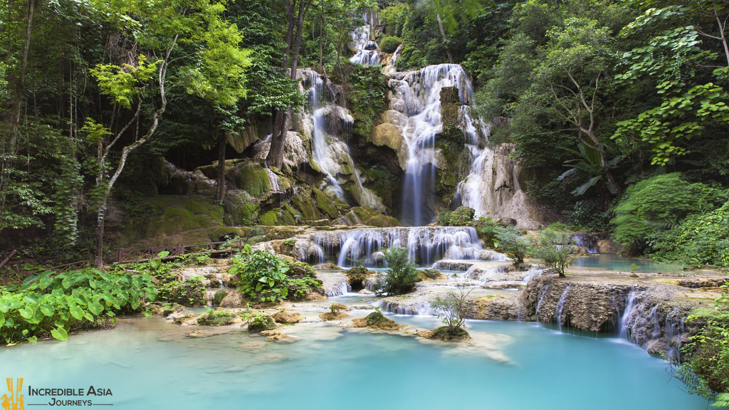
[[[338,198],[345,200],[344,190],[337,179],[338,174],[343,174],[343,164],[348,170],[351,170],[353,179],[352,195],[360,206],[369,206],[378,212],[384,212],[385,206],[378,196],[371,190],[362,185],[362,177],[359,170],[354,165],[349,154],[347,144],[340,141],[337,136],[327,134],[325,127],[325,117],[334,115],[345,123],[346,129],[351,129],[354,118],[346,112],[345,109],[335,104],[324,104],[321,106],[322,88],[324,80],[321,79],[319,73],[308,70],[308,82],[311,84],[309,90],[311,96],[311,117],[313,123],[313,146],[311,148],[311,156],[319,167],[319,171],[326,177],[325,187]]]

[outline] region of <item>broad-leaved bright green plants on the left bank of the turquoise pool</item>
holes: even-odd
[[[120,312],[138,312],[157,290],[148,274],[85,269],[31,276],[18,287],[0,287],[0,337],[8,344],[104,323]]]

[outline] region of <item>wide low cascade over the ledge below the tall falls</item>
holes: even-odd
[[[361,259],[364,266],[379,266],[383,251],[391,247],[407,248],[408,258],[422,266],[443,258],[473,259],[483,250],[472,227],[364,228],[342,231],[338,236],[317,233],[313,241],[325,257],[336,253],[337,265],[343,267]]]

